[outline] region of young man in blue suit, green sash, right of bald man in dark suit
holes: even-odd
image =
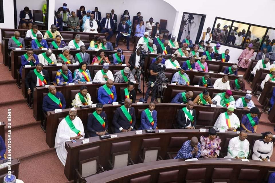
[[[150,102],[149,108],[141,112],[140,117],[140,128],[139,130],[152,130],[158,129],[157,115],[158,112],[155,110],[156,103]]]

